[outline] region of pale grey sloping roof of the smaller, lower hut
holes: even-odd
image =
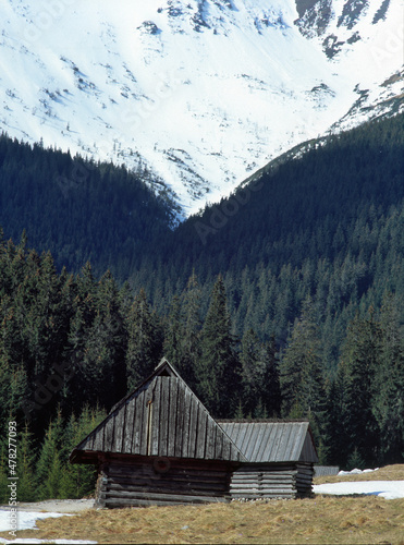
[[[308,422],[219,422],[249,462],[318,462]]]

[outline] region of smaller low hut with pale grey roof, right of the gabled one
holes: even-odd
[[[223,421],[221,428],[247,459],[232,472],[234,499],[308,497],[318,462],[308,422]]]

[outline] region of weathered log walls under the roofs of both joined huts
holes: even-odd
[[[313,494],[313,464],[247,464],[160,457],[101,460],[97,507],[208,504]]]

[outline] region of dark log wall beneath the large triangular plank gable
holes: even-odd
[[[114,458],[99,472],[99,507],[229,501],[230,469],[222,462]]]

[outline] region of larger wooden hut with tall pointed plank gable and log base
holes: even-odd
[[[72,451],[98,468],[96,506],[227,501],[244,461],[167,360]]]

